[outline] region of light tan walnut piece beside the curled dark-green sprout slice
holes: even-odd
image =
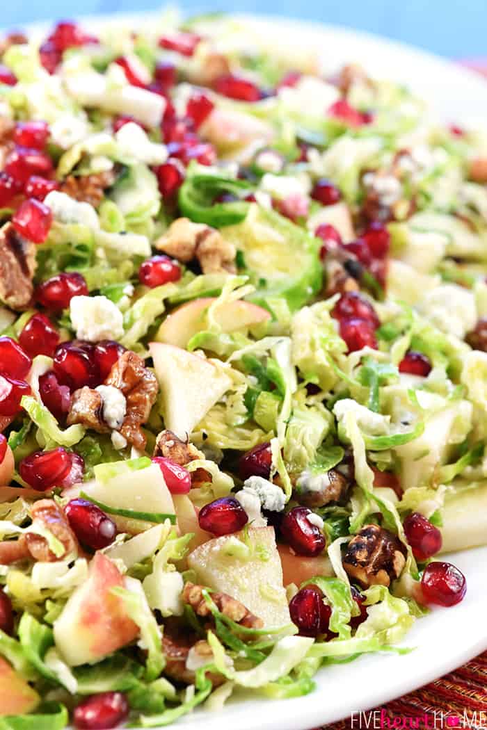
[[[235,268],[236,250],[225,241],[216,228],[205,223],[193,223],[189,218],[177,218],[166,233],[156,241],[156,248],[187,263],[197,258],[204,274],[229,272]]]

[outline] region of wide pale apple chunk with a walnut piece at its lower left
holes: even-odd
[[[211,539],[190,553],[188,566],[200,583],[242,602],[265,626],[291,621],[273,527],[250,528],[245,540],[242,533]]]

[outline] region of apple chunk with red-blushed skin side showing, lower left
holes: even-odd
[[[117,585],[124,585],[118,567],[95,553],[88,580],[72,593],[53,626],[55,645],[69,666],[99,661],[139,635],[123,601],[111,593]]]

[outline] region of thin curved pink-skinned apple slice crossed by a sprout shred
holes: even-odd
[[[214,301],[216,301],[214,296],[205,296],[177,307],[158,328],[157,342],[186,347],[193,335],[207,329],[206,312]],[[237,299],[229,301],[224,308],[220,307],[215,313],[215,320],[223,332],[234,332],[266,322],[270,316],[270,313],[258,304]]]

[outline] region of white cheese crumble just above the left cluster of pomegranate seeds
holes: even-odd
[[[77,339],[99,342],[123,335],[122,312],[106,296],[73,296],[69,315]]]

